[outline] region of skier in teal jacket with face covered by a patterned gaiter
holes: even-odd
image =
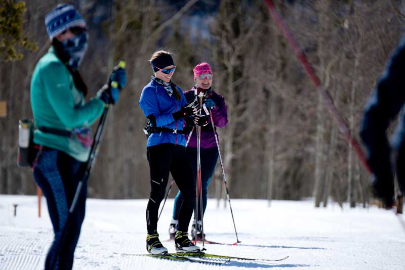
[[[60,4],[46,15],[45,24],[52,46],[37,63],[31,79],[31,107],[37,127],[33,141],[39,145],[33,174],[47,199],[55,233],[45,269],[71,269],[85,217],[87,187],[82,187],[68,226],[66,221],[89,158],[90,125],[106,104],[117,102],[126,72],[113,71],[98,96],[86,103],[87,87],[77,71],[88,43],[85,21],[73,6]],[[118,88],[111,86],[112,81],[118,82]]]

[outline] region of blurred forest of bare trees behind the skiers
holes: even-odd
[[[9,0],[2,0],[2,3]],[[16,3],[21,1],[16,1]],[[19,168],[18,120],[32,117],[29,92],[36,62],[49,48],[44,16],[60,1],[29,0],[23,34],[38,50],[0,60],[0,194],[34,194],[32,172]],[[93,198],[147,198],[146,118],[138,101],[150,80],[147,61],[174,53],[174,82],[193,86],[192,68],[209,62],[213,87],[225,97],[229,124],[218,133],[231,198],[315,198],[367,205],[370,175],[338,130],[264,1],[88,0],[73,4],[88,23],[90,47],[80,71],[89,97],[118,59],[128,84],[107,120],[89,181]],[[405,3],[397,0],[274,1],[358,140],[363,107],[396,47]],[[1,25],[0,25],[1,27]],[[0,36],[0,39],[3,37]],[[176,193],[172,191],[171,197]],[[223,197],[218,163],[209,196]]]

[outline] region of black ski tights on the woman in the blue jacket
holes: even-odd
[[[169,172],[175,179],[183,195],[179,212],[179,231],[187,232],[194,210],[194,177],[186,148],[174,144],[161,144],[148,147],[147,158],[150,168],[150,197],[146,208],[148,234],[157,232],[157,215],[160,202],[165,197]]]

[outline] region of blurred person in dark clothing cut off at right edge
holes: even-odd
[[[404,71],[405,38],[402,38],[366,105],[360,131],[373,171],[372,191],[386,208],[394,203],[394,171],[402,194],[405,192]],[[398,113],[399,123],[389,142],[387,128]]]

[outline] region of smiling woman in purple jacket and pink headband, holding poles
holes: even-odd
[[[224,127],[228,123],[228,115],[226,112],[226,105],[224,97],[215,93],[211,87],[213,73],[211,67],[208,63],[200,63],[196,65],[193,69],[195,85],[189,90],[184,92],[187,102],[192,102],[195,100],[196,96],[201,92],[204,93],[205,107],[207,110],[201,110],[202,114],[208,115],[209,124],[201,126],[201,137],[200,137],[200,164],[201,164],[201,188],[203,190],[203,215],[207,207],[207,193],[208,185],[210,184],[211,177],[214,173],[215,166],[218,161],[218,148],[215,142],[214,132],[211,123],[210,113],[214,119],[215,127]],[[217,134],[218,136],[218,134]],[[188,140],[188,138],[186,138]],[[191,134],[190,141],[187,146],[187,155],[190,159],[191,168],[194,173],[194,180],[196,181],[197,175],[197,136],[195,128]],[[169,234],[173,239],[176,235],[179,209],[183,202],[183,196],[181,192],[177,194],[173,209],[173,219],[170,224]],[[193,238],[197,237],[200,239],[202,237],[201,233],[201,213],[200,208],[198,208],[198,213],[194,213],[194,222],[192,225],[191,235]],[[197,230],[195,230],[195,218],[197,218]],[[195,232],[197,231],[197,232]]]

